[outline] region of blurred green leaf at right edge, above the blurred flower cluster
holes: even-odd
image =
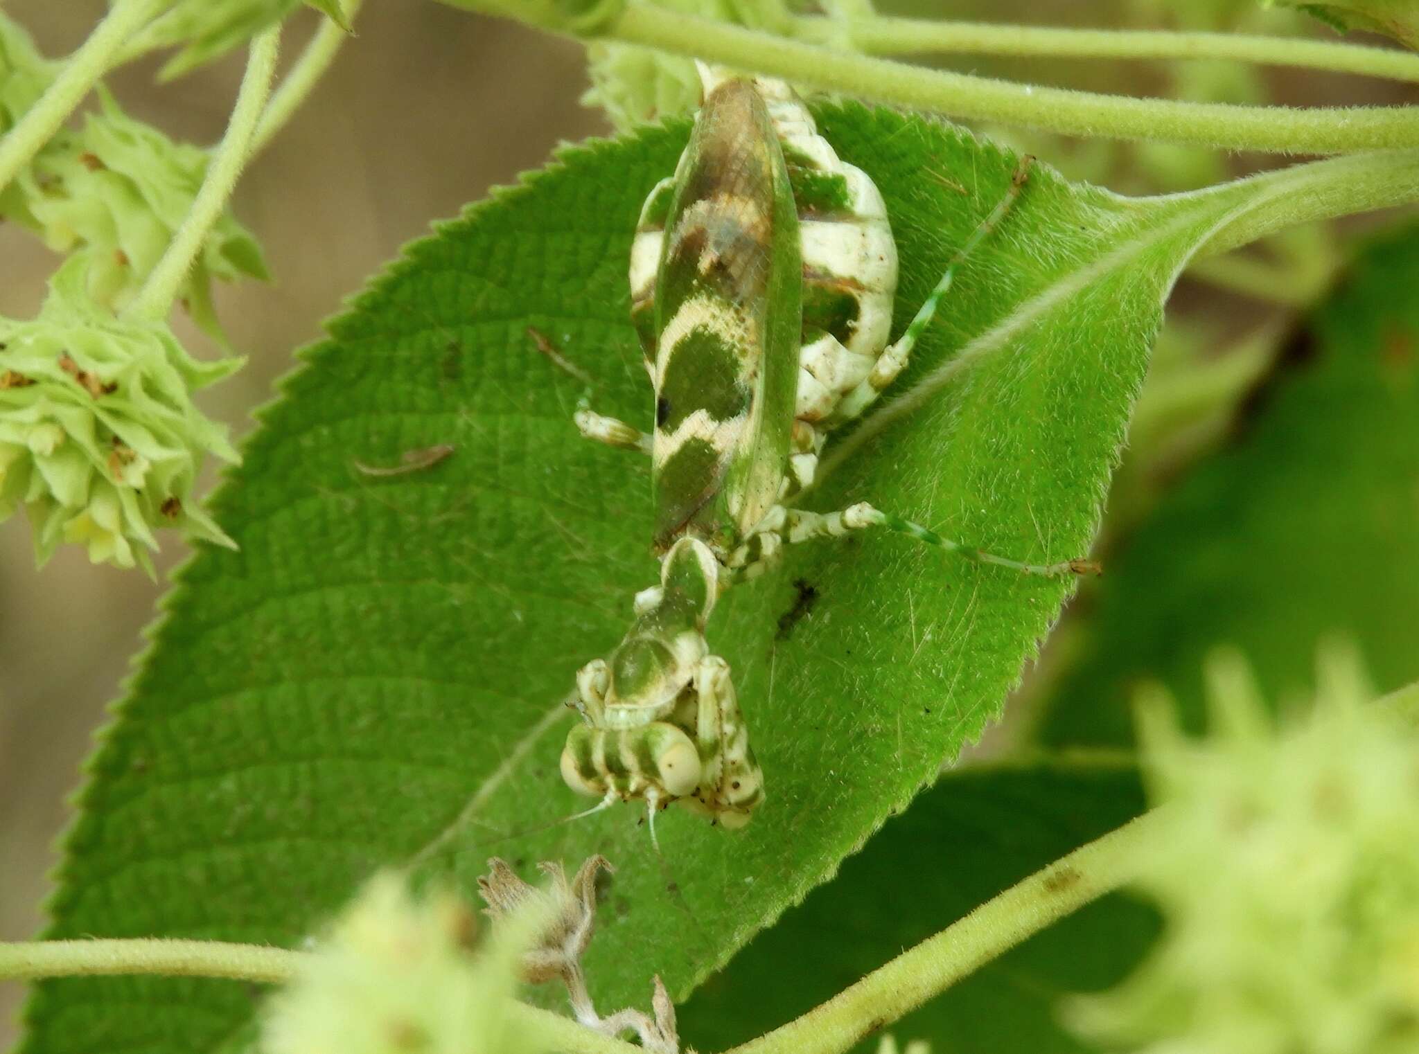
[[[1202,728],[1202,660],[1233,644],[1269,698],[1311,692],[1317,643],[1357,641],[1381,691],[1419,677],[1419,228],[1368,250],[1290,342],[1233,443],[1127,540],[1078,660],[1051,691],[1050,743],[1130,742],[1156,679]]]

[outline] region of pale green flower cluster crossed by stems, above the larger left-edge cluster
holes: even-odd
[[[0,131],[48,87],[45,61],[24,30],[0,14]],[[175,143],[126,116],[101,92],[102,108],[81,129],[62,129],[0,192],[0,218],[34,230],[50,248],[89,258],[89,295],[122,308],[142,287],[192,207],[207,152]],[[204,331],[219,335],[211,278],[267,278],[255,240],[231,216],[213,227],[182,298]]]

